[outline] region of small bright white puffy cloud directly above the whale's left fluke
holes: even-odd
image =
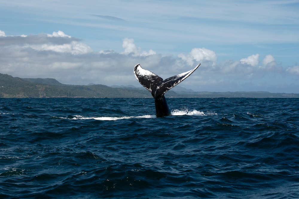
[[[156,52],[150,49],[149,51],[142,51],[140,47],[136,47],[134,44],[134,39],[124,38],[123,39],[123,48],[125,51],[122,54],[129,55],[132,53],[133,56],[148,56],[155,55]]]

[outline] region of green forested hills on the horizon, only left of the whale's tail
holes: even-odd
[[[12,77],[0,73],[0,98],[50,98],[50,97],[86,97],[86,98],[145,98],[151,97],[147,90],[128,90],[111,88],[101,84],[91,86],[57,84],[56,80],[27,79]],[[36,83],[51,82],[52,84]]]

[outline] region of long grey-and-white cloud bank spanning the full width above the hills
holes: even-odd
[[[123,52],[93,51],[81,39],[62,31],[52,34],[7,36],[0,30],[0,73],[21,78],[55,78],[64,84],[140,86],[133,74],[139,63],[162,78],[201,66],[180,86],[195,91],[296,92],[289,79],[299,77],[299,66],[282,67],[274,56],[258,53],[240,60],[217,60],[216,52],[194,47],[178,56],[157,54],[123,38]],[[290,85],[292,87],[290,87]],[[299,91],[297,91],[298,93]]]

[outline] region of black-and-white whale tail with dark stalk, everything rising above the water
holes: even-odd
[[[143,69],[140,66],[140,64],[137,64],[134,67],[134,75],[136,79],[152,94],[152,97],[155,99],[156,118],[171,115],[164,94],[174,86],[181,83],[184,79],[191,75],[199,66],[200,64],[198,64],[192,70],[183,72],[179,75],[172,76],[165,80],[163,80],[155,73]]]

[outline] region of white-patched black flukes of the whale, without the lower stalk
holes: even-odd
[[[141,68],[140,64],[137,64],[134,67],[134,74],[137,80],[140,82],[142,86],[144,86],[149,92],[152,94],[152,97],[155,100],[161,100],[164,97],[164,94],[179,84],[181,81],[186,79],[189,75],[194,72],[200,64],[198,64],[193,70],[189,70],[187,72],[183,72],[179,75],[172,76],[163,80],[161,77],[156,75],[149,70],[145,70]]]

